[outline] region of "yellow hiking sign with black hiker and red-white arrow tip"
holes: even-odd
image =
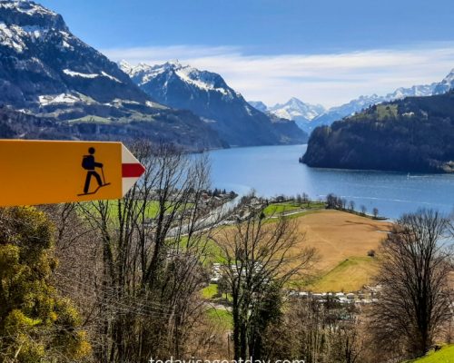
[[[120,199],[144,171],[121,142],[0,140],[0,206]]]

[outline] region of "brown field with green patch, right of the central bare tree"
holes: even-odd
[[[378,264],[367,252],[379,249],[390,222],[342,211],[317,211],[296,221],[298,231],[305,233],[301,247],[314,247],[319,255],[315,265],[319,279],[309,289],[351,291],[371,283]]]

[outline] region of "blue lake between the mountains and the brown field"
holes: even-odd
[[[252,189],[264,197],[306,192],[312,199],[334,194],[354,201],[356,209],[377,207],[398,218],[421,207],[454,210],[454,175],[346,171],[309,168],[298,162],[306,145],[262,146],[209,152],[213,187],[240,194]]]

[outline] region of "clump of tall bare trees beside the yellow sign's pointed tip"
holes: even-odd
[[[185,354],[204,314],[198,294],[217,221],[202,198],[210,187],[204,155],[148,142],[132,149],[144,178],[122,200],[79,205],[102,246],[92,294],[103,315],[95,354],[106,362]]]

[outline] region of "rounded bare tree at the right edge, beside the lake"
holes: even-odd
[[[437,211],[406,214],[393,227],[381,250],[377,282],[382,287],[371,327],[381,347],[417,357],[426,353],[449,309],[452,264],[443,245],[449,220]]]

